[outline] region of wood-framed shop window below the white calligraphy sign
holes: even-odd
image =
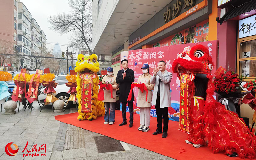
[[[238,40],[237,72],[247,76],[244,81],[256,77],[256,36],[245,37]]]

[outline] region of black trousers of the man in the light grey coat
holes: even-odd
[[[157,114],[157,129],[158,131],[162,131],[162,123],[164,118],[163,132],[167,132],[169,123],[168,107],[160,108],[160,96],[157,96],[155,108]]]

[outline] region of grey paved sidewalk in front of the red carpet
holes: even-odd
[[[30,113],[28,108],[24,111],[20,105],[19,113],[13,115],[4,115],[5,110],[2,107],[2,113],[0,113],[0,160],[173,160],[124,142],[121,144],[125,151],[98,153],[94,137],[103,135],[56,121],[54,118],[55,115],[74,113],[76,108],[67,109],[64,113],[53,113],[52,106],[44,106],[41,112],[38,104],[33,106],[32,113]],[[16,112],[18,112],[18,107]],[[5,146],[10,142],[19,147],[15,156],[8,156],[5,153]],[[25,149],[23,153],[20,153],[24,150],[27,142],[26,149],[28,151]],[[46,144],[46,153],[44,153],[45,150],[38,151],[39,146],[43,144]],[[32,151],[34,145],[37,145],[37,152]],[[15,149],[14,145],[11,147]],[[39,154],[39,156],[42,154],[43,157],[23,157],[23,154],[31,153]]]

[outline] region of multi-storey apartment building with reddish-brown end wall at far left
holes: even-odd
[[[0,14],[3,15],[0,20],[5,22],[0,26],[0,41],[12,45],[10,54],[20,55],[4,63],[11,63],[17,69],[25,66],[36,69],[36,59],[30,56],[41,55],[46,50],[45,33],[20,0],[1,0]],[[24,59],[23,66],[21,59]]]

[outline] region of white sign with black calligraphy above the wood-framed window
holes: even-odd
[[[239,20],[239,38],[256,35],[256,15]]]

